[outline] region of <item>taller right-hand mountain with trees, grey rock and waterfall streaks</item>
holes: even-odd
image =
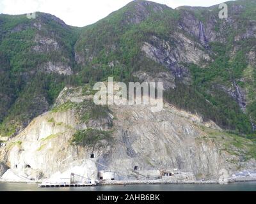
[[[172,10],[133,1],[87,27],[77,40],[76,60],[85,67],[84,82],[104,78],[105,72],[124,80],[138,71],[152,76],[164,71],[175,81],[176,89],[165,94],[170,103],[222,128],[252,133],[255,75],[249,79],[246,73],[255,63],[255,20],[247,10],[255,3],[228,5],[230,16],[221,20],[217,6]]]

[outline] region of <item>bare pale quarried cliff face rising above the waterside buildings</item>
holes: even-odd
[[[145,105],[113,105],[104,118],[85,121],[81,106],[92,95],[82,90],[64,89],[51,112],[34,119],[1,147],[1,161],[20,177],[32,180],[49,178],[58,171],[76,172],[74,166],[80,166],[79,172],[91,179],[99,170],[115,171],[118,179],[136,178],[135,166],[138,172],[178,168],[197,179],[218,178],[222,168],[233,173],[256,166],[255,159],[248,157],[253,148],[250,140],[239,138],[237,143],[242,146],[235,145],[232,135],[213,122],[205,123],[168,104],[155,113]],[[93,143],[74,143],[77,131],[91,128],[110,131],[111,142],[93,135]]]

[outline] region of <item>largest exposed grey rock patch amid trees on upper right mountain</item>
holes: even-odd
[[[211,58],[207,53],[199,49],[200,45],[184,36],[182,33],[173,35],[174,45],[169,41],[164,41],[156,36],[150,38],[150,42],[145,42],[141,50],[145,55],[172,71],[174,77],[189,78],[188,68],[179,64],[179,62],[187,62],[200,64],[200,61],[210,61]]]

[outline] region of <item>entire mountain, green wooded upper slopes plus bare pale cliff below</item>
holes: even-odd
[[[30,159],[34,173],[49,177],[60,168],[47,160],[51,145],[52,159],[72,152],[77,165],[92,147],[103,145],[97,161],[119,166],[127,159],[124,169],[140,163],[144,170],[178,166],[210,178],[221,168],[232,173],[254,168],[256,2],[227,5],[228,18],[220,19],[218,5],[172,9],[136,0],[82,28],[47,13],[37,12],[35,19],[0,15],[0,140],[5,143],[0,161],[11,168],[19,161],[23,170]],[[80,104],[88,99],[86,91],[92,92],[88,87],[109,76],[116,82],[163,82],[164,111]],[[147,126],[137,127],[134,115]],[[155,155],[143,149],[148,143]],[[164,152],[158,151],[163,145]],[[63,149],[67,152],[59,154]],[[202,157],[188,161],[196,155]],[[48,173],[43,161],[52,166]],[[70,168],[68,163],[63,168]]]

